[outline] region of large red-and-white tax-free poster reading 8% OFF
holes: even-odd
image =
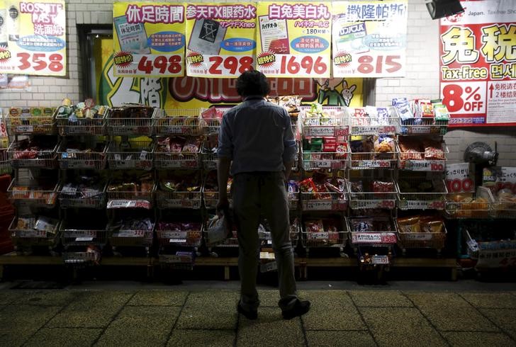
[[[450,127],[516,125],[516,4],[461,1],[442,18],[439,64]]]

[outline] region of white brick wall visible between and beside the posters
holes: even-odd
[[[209,2],[209,1],[200,1]],[[439,96],[439,27],[427,12],[425,1],[408,0],[407,74],[403,79],[376,81],[376,106],[390,104],[391,98],[437,98]],[[79,101],[82,96],[82,72],[77,42],[77,24],[111,24],[111,0],[67,1],[67,76],[30,77],[32,90],[0,91],[0,106],[56,106],[64,96]],[[451,130],[445,139],[451,162],[462,161],[464,149],[475,141],[494,147],[498,141],[499,164],[516,166],[516,131],[500,129]]]

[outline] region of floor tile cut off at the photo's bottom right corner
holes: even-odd
[[[486,333],[479,331],[452,332],[442,333],[444,338],[454,347],[470,347],[470,346],[496,346],[496,347],[514,347],[515,341],[509,336],[502,333]]]

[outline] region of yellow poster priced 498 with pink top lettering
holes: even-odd
[[[182,4],[113,4],[115,76],[183,76],[184,25]]]

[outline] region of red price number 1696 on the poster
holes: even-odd
[[[322,76],[326,74],[328,66],[324,57],[311,55],[282,55],[279,73],[297,76]]]

